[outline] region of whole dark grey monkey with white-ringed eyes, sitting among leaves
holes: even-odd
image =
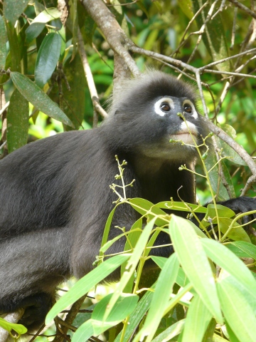
[[[100,127],[28,143],[0,161],[0,312],[25,308],[20,323],[36,328],[53,305],[56,286],[92,270],[117,199],[110,190],[115,155],[127,161],[125,183],[135,180],[127,197],[196,203],[193,174],[178,170],[183,164],[193,169],[195,141],[200,145],[208,135],[196,103],[193,86],[151,71],[124,82]],[[256,209],[249,197],[222,204],[236,212]],[[110,239],[119,234],[114,226],[129,229],[136,219],[128,204],[118,206]],[[165,235],[156,242],[165,244]],[[120,239],[111,252],[123,247]],[[152,250],[163,257],[172,252]]]

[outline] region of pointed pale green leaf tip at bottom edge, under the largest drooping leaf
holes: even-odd
[[[196,295],[188,307],[182,342],[201,342],[212,317],[201,298]]]

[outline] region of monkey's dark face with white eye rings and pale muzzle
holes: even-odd
[[[148,125],[148,136],[139,145],[144,155],[168,160],[196,157],[195,145],[201,144],[201,135],[205,134],[201,116],[191,100],[161,96],[146,105],[141,120]]]

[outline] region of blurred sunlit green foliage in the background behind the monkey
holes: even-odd
[[[102,108],[106,109],[105,101],[112,92],[114,71],[117,72],[115,76],[121,73],[117,54],[121,59],[124,55],[92,11],[86,11],[85,3],[91,3],[93,7],[92,1],[0,1],[2,157],[26,142],[72,129],[62,124],[67,123],[65,115],[75,129],[89,129],[102,120],[104,112],[97,108],[95,102],[92,105],[92,91],[86,81],[88,73],[85,74],[84,59],[81,60],[78,28],[97,88],[96,97]],[[255,155],[255,1],[95,0],[94,4],[97,3],[107,6],[125,35],[142,49],[129,48],[129,42],[123,43],[117,34],[117,41],[122,41],[124,48],[132,53],[139,71],[157,68],[196,85],[193,71],[178,65],[178,61],[193,68],[203,68],[201,83],[210,118],[215,123],[226,125],[223,127],[234,137],[234,131],[227,126],[231,125],[236,131],[236,141],[250,155]],[[107,21],[106,18],[102,16],[102,21]],[[150,58],[144,51],[160,55],[154,54]],[[245,54],[245,51],[249,53]],[[177,63],[166,62],[163,56],[170,56]],[[227,59],[230,56],[234,58]],[[216,61],[222,62],[208,66]],[[124,61],[122,63],[124,66]],[[129,69],[134,74],[131,65]],[[10,71],[13,76],[10,76]],[[15,72],[26,78],[17,79]],[[118,77],[114,79],[118,86]],[[39,111],[36,98],[39,90],[32,88],[31,93],[26,93],[27,80],[35,82],[47,93],[65,115],[62,112],[53,115],[47,111],[48,100],[43,102],[44,113]],[[224,150],[227,148],[225,145],[222,147]],[[238,196],[250,170],[237,155],[234,157],[234,160],[225,161],[228,168],[225,165],[223,168],[230,173],[230,177],[227,176],[230,192]],[[218,188],[217,172],[212,181]],[[197,184],[198,197],[205,202],[210,198],[208,185],[202,178],[198,178]],[[254,190],[247,195],[254,196]],[[226,199],[228,193],[220,190],[218,197]],[[176,315],[179,315],[178,309]],[[163,318],[161,324],[166,328],[172,319],[173,316]],[[224,341],[228,338],[223,333],[220,336]],[[109,337],[109,341],[114,341],[114,338],[111,340]],[[230,341],[238,340],[231,336]]]

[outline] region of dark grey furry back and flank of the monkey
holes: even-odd
[[[97,129],[60,133],[1,160],[0,238],[65,226],[75,183],[87,187],[100,140]]]

